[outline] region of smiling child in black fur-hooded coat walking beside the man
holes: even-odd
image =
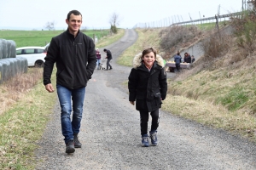
[[[140,113],[142,146],[148,147],[148,113],[152,117],[149,131],[151,144],[157,145],[159,109],[166,99],[167,82],[164,61],[154,48],[146,48],[133,59],[133,68],[128,77],[129,101]]]

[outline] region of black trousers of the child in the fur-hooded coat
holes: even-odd
[[[151,123],[151,130],[154,131],[157,130],[157,127],[159,126],[159,109],[152,111],[150,113],[152,117],[152,123]],[[148,111],[140,111],[141,116],[141,134],[148,134]]]

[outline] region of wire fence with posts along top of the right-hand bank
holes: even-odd
[[[145,22],[145,23],[137,23],[137,25],[133,26],[133,28],[160,28],[160,27],[167,27],[167,26],[183,26],[183,25],[197,25],[197,24],[205,24],[205,23],[212,23],[223,20],[230,20],[230,17],[235,17],[240,15],[241,12],[237,13],[230,13],[230,14],[222,14],[222,15],[215,15],[213,17],[202,18],[198,20],[188,20],[188,21],[180,21],[181,19],[177,16],[172,18],[166,18],[164,20],[158,20],[153,22]]]

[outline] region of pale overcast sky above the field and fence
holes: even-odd
[[[220,6],[220,7],[219,7]],[[77,9],[82,27],[109,28],[110,15],[119,15],[118,27],[161,20],[197,20],[241,11],[242,0],[0,0],[0,29],[44,29],[55,21],[56,29],[67,29],[67,13]],[[201,14],[201,15],[200,15]],[[163,21],[164,22],[164,21]]]

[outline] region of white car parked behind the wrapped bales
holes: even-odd
[[[16,48],[16,56],[26,58],[28,66],[43,67],[46,54],[44,47]]]

